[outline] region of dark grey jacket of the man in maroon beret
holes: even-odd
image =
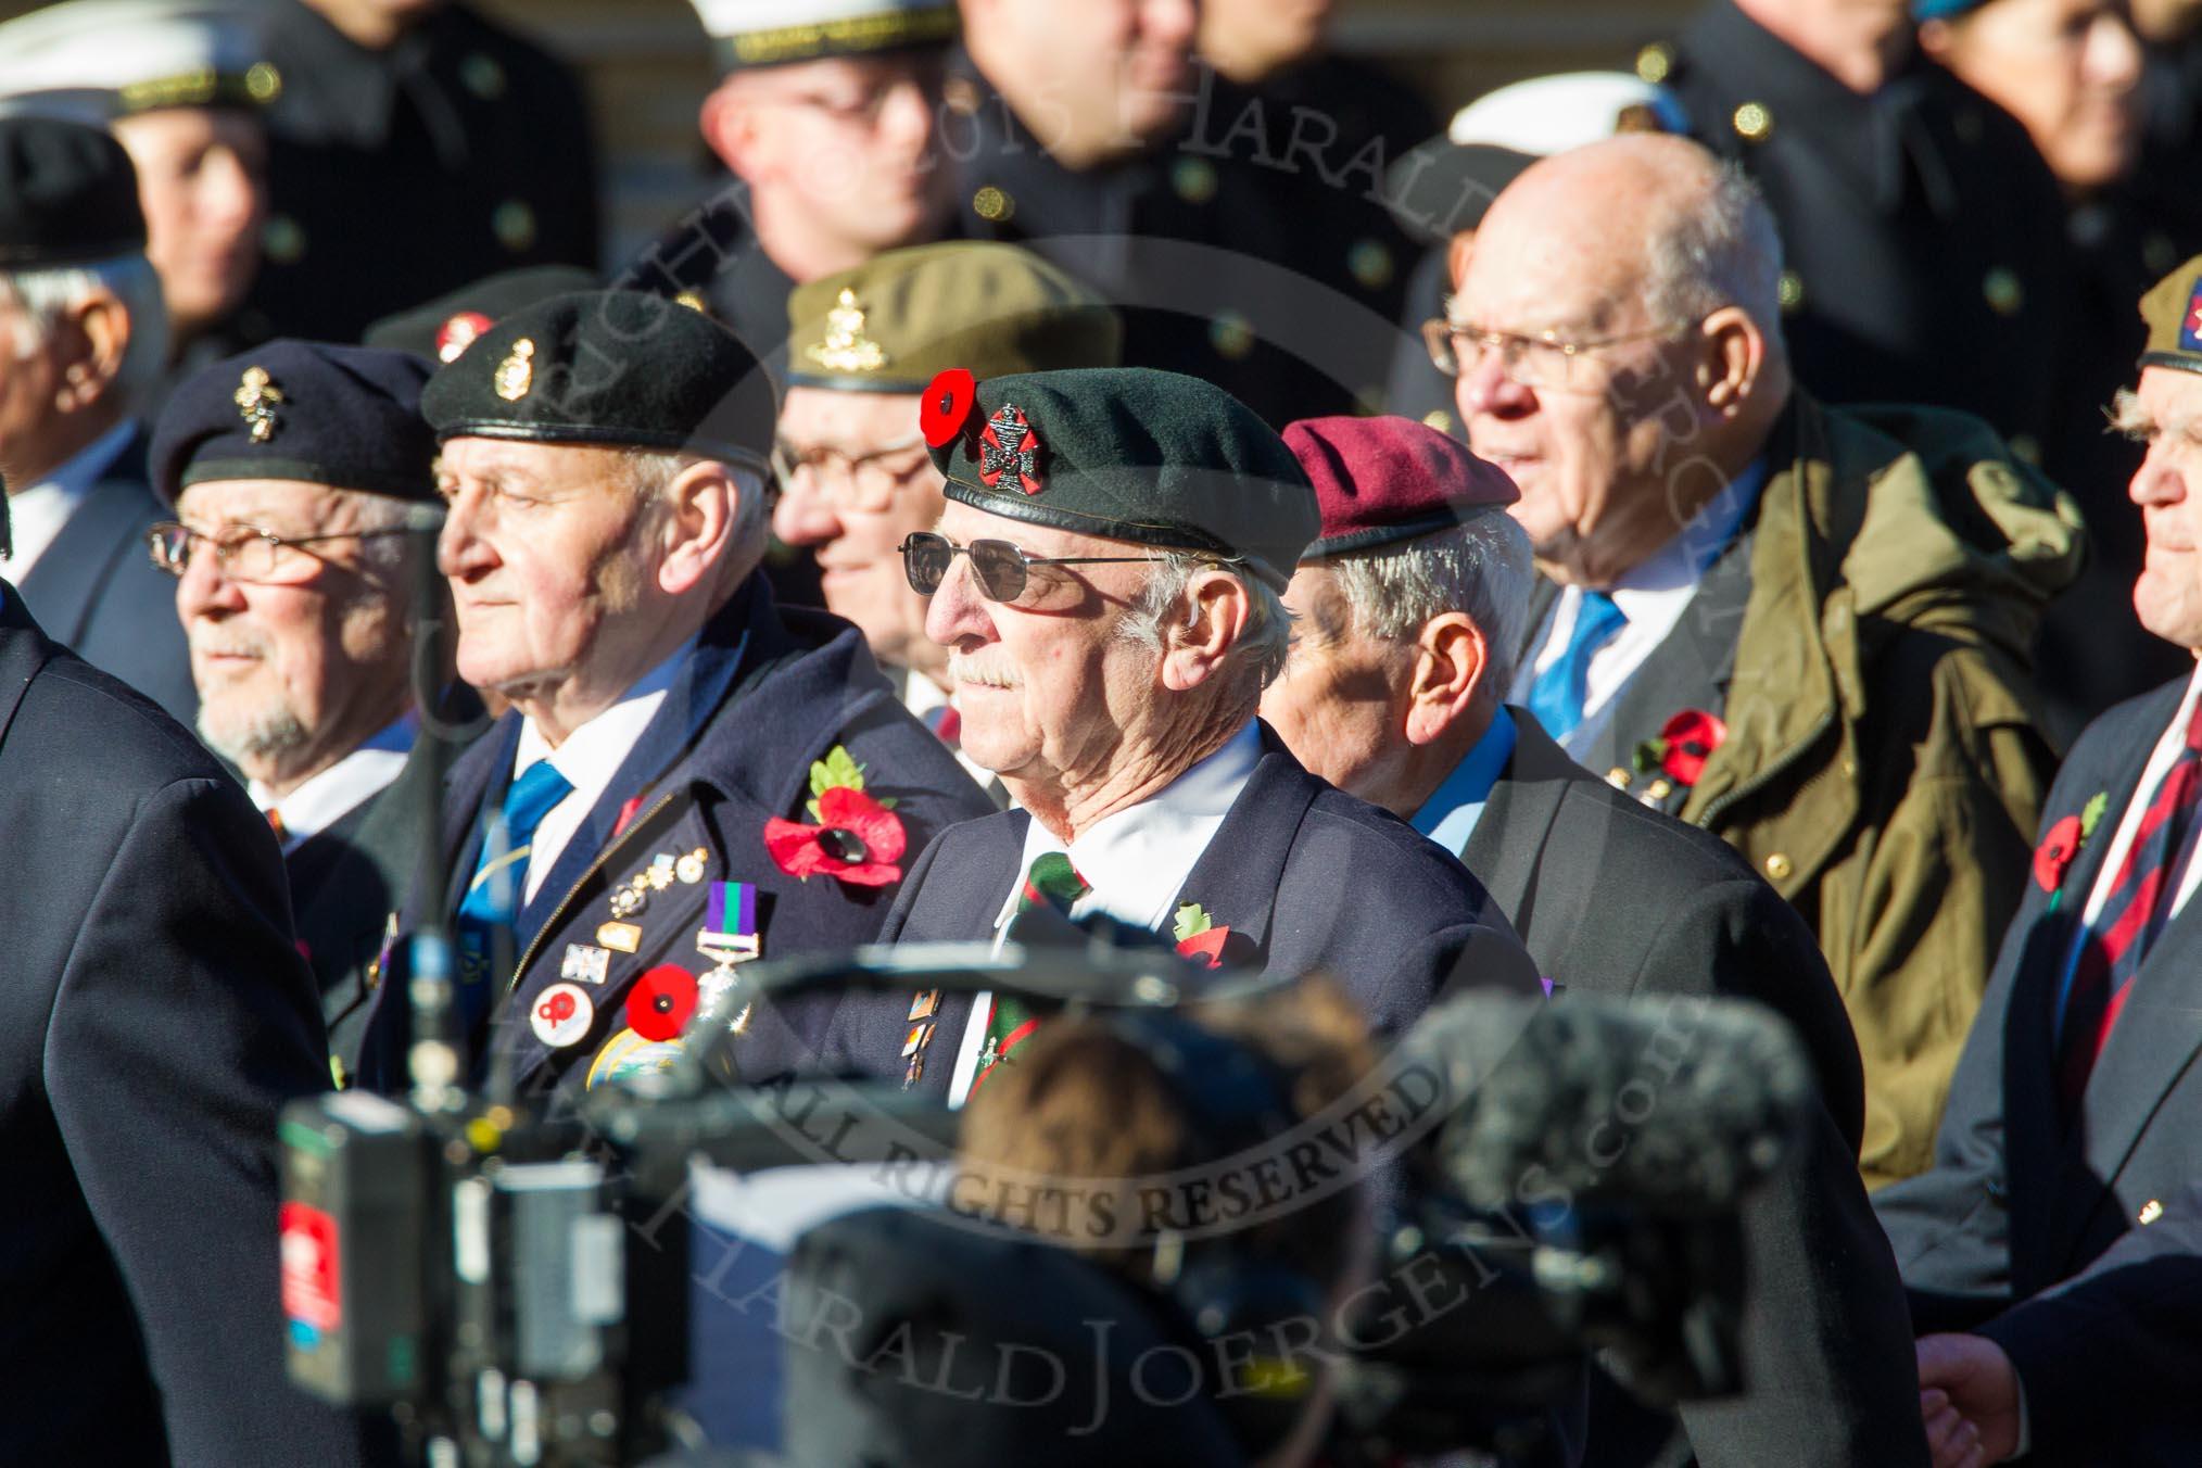
[[[1903,1290],[1858,1180],[1858,1045],[1812,931],[1729,843],[1614,790],[1526,709],[1508,713],[1515,753],[1462,861],[1539,971],[1574,995],[1766,1004],[1795,1026],[1828,1103],[1801,1164],[1744,1213],[1751,1389],[1687,1406],[1689,1446],[1707,1468],[1925,1464]],[[1596,1393],[1585,1464],[1643,1461],[1667,1435],[1612,1391]]]

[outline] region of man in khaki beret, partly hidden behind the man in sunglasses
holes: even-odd
[[[956,748],[949,654],[925,636],[905,535],[947,504],[918,434],[936,372],[1114,368],[1123,324],[1090,288],[1015,244],[920,244],[802,286],[788,302],[788,394],[773,533],[817,555],[826,607],[863,629],[903,704]]]

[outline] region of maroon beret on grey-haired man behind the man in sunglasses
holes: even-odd
[[[1429,535],[1522,497],[1504,469],[1414,418],[1301,418],[1284,442],[1323,506],[1323,533],[1301,561]]]

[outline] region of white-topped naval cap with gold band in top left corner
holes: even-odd
[[[240,0],[66,0],[0,24],[0,112],[103,125],[156,108],[264,106],[280,90]]]

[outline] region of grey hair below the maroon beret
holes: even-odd
[[[1528,638],[1535,579],[1528,533],[1504,511],[1482,511],[1411,541],[1328,561],[1354,627],[1387,643],[1411,643],[1442,612],[1467,612],[1484,634],[1484,687],[1500,700],[1513,687],[1515,656]]]

